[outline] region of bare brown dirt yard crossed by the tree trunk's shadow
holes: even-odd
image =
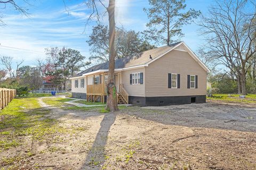
[[[253,105],[131,106],[113,114],[37,100],[49,112],[42,120],[57,120],[61,130],[42,140],[22,136],[25,143],[0,152],[3,169],[256,169]]]

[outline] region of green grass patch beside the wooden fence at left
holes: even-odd
[[[36,98],[17,98],[0,112],[0,152],[24,143],[23,135],[44,140],[47,135],[66,132],[58,121],[45,118],[50,110],[42,109]]]

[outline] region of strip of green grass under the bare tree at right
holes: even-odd
[[[207,97],[207,99],[210,100],[219,100],[219,101],[225,101],[230,103],[250,103],[250,104],[256,104],[256,95],[246,95],[246,97],[239,98],[238,94],[228,95],[228,94],[214,94],[212,97]]]

